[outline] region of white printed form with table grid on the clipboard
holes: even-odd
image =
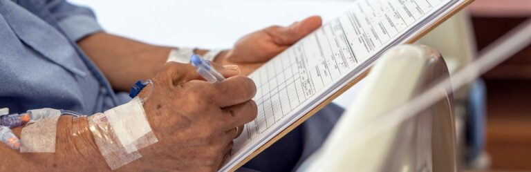
[[[257,84],[257,119],[234,141],[228,171],[337,90],[364,62],[426,23],[452,0],[358,0],[249,77]],[[377,58],[377,57],[375,57]],[[350,75],[349,75],[350,74]]]

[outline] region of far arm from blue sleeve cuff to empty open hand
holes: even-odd
[[[102,70],[115,90],[127,91],[138,79],[149,79],[165,64],[167,46],[154,46],[103,32],[93,13],[63,0],[50,7],[66,35]],[[288,27],[271,26],[239,39],[231,50],[214,59],[218,64],[238,65],[243,75],[295,44],[321,26],[320,17],[309,17]],[[203,55],[207,50],[196,50]]]

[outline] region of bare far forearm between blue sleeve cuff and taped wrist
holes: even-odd
[[[128,91],[138,79],[151,79],[171,48],[97,32],[77,42],[102,70],[115,90]]]

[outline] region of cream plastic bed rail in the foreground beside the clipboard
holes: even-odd
[[[392,48],[366,77],[322,149],[299,171],[456,171],[451,86],[440,88],[444,98],[418,113],[393,114],[446,77],[448,68],[436,50]]]

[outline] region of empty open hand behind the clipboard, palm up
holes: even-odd
[[[242,75],[249,75],[265,62],[275,57],[322,24],[321,17],[308,17],[288,27],[271,26],[239,39],[232,50],[223,52],[214,61],[218,64],[235,64]]]

